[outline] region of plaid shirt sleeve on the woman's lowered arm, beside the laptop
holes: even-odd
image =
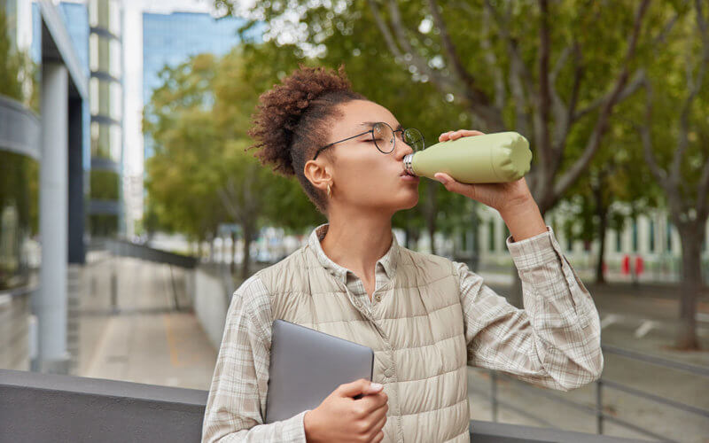
[[[269,291],[258,276],[230,301],[222,345],[206,400],[202,442],[304,443],[303,417],[263,424],[269,383],[271,311]]]

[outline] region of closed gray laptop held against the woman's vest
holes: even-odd
[[[300,324],[275,320],[266,423],[315,409],[339,385],[371,380],[374,351]]]

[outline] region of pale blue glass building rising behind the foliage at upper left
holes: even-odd
[[[143,14],[143,103],[160,87],[160,70],[178,66],[187,58],[212,53],[221,56],[238,44],[237,29],[244,19],[214,19],[207,13]],[[152,143],[144,137],[144,158],[152,157]]]

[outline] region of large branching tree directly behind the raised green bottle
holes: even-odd
[[[233,10],[227,0],[216,3]],[[550,7],[546,0],[426,0],[409,2],[405,9],[396,0],[367,0],[338,11],[305,0],[294,3],[305,11],[300,21],[308,25],[300,33],[293,27],[302,42],[331,51],[328,36],[351,36],[356,27],[373,24],[414,82],[431,82],[441,97],[452,97],[484,130],[514,128],[527,136],[535,150],[527,182],[542,214],[586,170],[615,105],[643,79],[643,69],[634,62],[649,0],[635,10],[624,4],[606,8],[573,1]],[[284,26],[282,2],[257,2],[252,12],[266,23]],[[357,34],[355,42],[366,54],[365,35]],[[567,150],[569,136],[584,119],[593,121],[593,130],[583,149]],[[574,161],[562,170],[570,154]]]

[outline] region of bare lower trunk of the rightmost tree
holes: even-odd
[[[680,328],[675,341],[677,349],[699,349],[697,300],[703,286],[701,248],[705,237],[705,222],[677,223],[675,221],[682,240],[682,295],[680,299]]]

